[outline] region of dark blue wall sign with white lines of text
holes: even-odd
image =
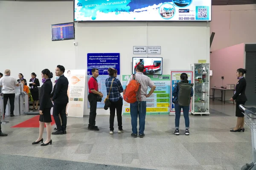
[[[88,53],[87,75],[92,75],[93,68],[99,69],[99,75],[108,75],[108,68],[116,68],[120,74],[120,53]]]

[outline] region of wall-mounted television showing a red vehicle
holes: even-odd
[[[132,74],[136,74],[136,67],[139,64],[144,65],[143,74],[161,75],[163,73],[162,57],[133,57],[132,58]]]

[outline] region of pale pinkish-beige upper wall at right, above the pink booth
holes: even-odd
[[[211,51],[256,42],[256,4],[212,6],[210,31],[215,32]]]

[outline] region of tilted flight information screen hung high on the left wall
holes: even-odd
[[[74,23],[52,24],[52,41],[75,39]]]

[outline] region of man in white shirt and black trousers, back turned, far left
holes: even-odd
[[[17,82],[17,79],[10,76],[11,71],[9,69],[6,69],[4,71],[5,76],[0,79],[0,86],[2,87],[2,93],[3,93],[3,111],[4,115],[6,113],[6,105],[9,99],[10,102],[10,116],[14,116],[14,101],[15,101],[15,86],[19,86],[19,83]]]

